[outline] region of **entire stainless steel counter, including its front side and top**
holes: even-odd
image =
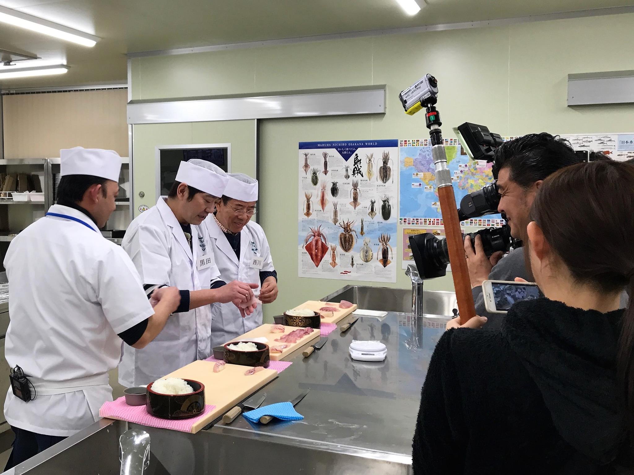
[[[295,352],[293,364],[261,392],[267,394],[264,403],[271,404],[310,388],[296,408],[304,415],[302,421],[264,426],[238,417],[228,426],[217,421],[198,434],[145,428],[152,438],[149,473],[410,473],[420,389],[447,319],[437,315],[412,319],[399,312],[381,319],[364,316],[347,333],[331,333],[327,344],[310,357]],[[387,358],[375,363],[351,360],[348,346],[353,339],[382,341]],[[102,421],[101,426],[63,441],[49,454],[40,454],[20,472],[70,471],[88,460],[90,453],[91,464],[82,469],[116,473],[115,442],[134,424]]]

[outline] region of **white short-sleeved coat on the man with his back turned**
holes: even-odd
[[[65,437],[98,421],[101,405],[112,401],[108,371],[121,357],[117,334],[154,311],[130,258],[89,217],[61,205],[49,212],[86,225],[46,216],[11,241],[5,355],[37,396],[24,402],[9,388],[4,417],[11,426]]]

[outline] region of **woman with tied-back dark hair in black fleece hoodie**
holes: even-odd
[[[634,291],[633,215],[627,163],[579,163],[543,181],[524,252],[545,297],[515,303],[500,329],[439,339],[413,438],[415,475],[632,468],[634,306],[619,304]]]

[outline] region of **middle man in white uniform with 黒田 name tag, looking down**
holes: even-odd
[[[169,195],[161,196],[128,227],[122,248],[132,258],[148,295],[162,286],[175,286],[181,304],[158,338],[143,350],[124,348],[120,384],[149,384],[208,358],[210,304],[223,302],[236,308],[253,298],[257,283],[226,284],[221,279],[207,229],[200,225],[223,196],[227,181],[207,168],[181,162]]]

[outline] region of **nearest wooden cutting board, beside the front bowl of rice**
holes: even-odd
[[[249,369],[248,366],[230,364],[225,365],[223,371],[214,373],[214,364],[210,361],[199,360],[165,376],[200,381],[205,385],[205,404],[216,406],[216,409],[207,414],[207,417],[194,424],[191,428],[193,434],[207,426],[209,422],[221,417],[237,403],[262,388],[264,384],[273,381],[278,375],[275,369],[263,369],[256,374],[245,376],[244,372]]]

